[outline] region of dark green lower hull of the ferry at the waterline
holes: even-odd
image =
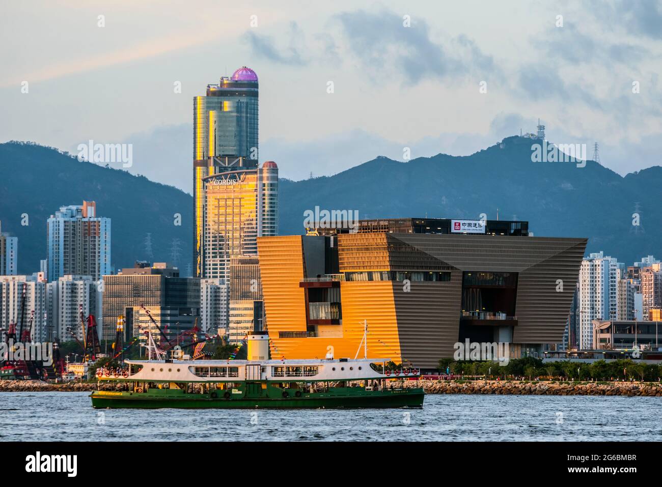
[[[209,394],[179,396],[150,393],[95,391],[90,397],[94,408],[138,409],[334,409],[334,408],[422,408],[422,388],[361,392],[359,394],[310,394],[289,398],[211,398]]]

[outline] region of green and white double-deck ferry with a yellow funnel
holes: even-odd
[[[250,360],[126,360],[128,369],[97,369],[94,408],[422,408],[420,371],[388,371],[389,359],[265,360],[268,335],[248,337]],[[266,351],[265,351],[266,350]],[[262,358],[262,359],[260,359]],[[413,384],[412,384],[413,385]]]

